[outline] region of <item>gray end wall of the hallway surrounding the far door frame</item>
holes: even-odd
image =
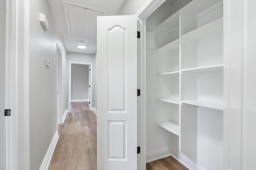
[[[92,107],[95,107],[95,87],[96,87],[96,66],[95,66],[95,55],[94,54],[82,54],[82,53],[71,53],[67,52],[66,54],[66,94],[68,94],[68,70],[69,62],[83,62],[83,63],[92,63]],[[66,109],[68,109],[68,95],[66,95]]]

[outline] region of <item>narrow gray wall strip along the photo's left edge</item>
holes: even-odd
[[[4,111],[5,105],[5,0],[0,0],[0,110]],[[5,117],[0,114],[0,169],[5,170]]]

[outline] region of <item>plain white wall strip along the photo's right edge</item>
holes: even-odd
[[[245,29],[245,33],[247,33],[246,43],[247,43],[247,56],[246,62],[244,65],[245,68],[245,123],[244,123],[244,151],[245,151],[245,158],[244,160],[244,167],[243,169],[246,170],[255,170],[256,169],[256,49],[255,49],[255,37],[256,37],[256,11],[255,11],[256,2],[255,1],[248,1],[248,6],[246,7],[247,15],[248,15],[248,23],[247,29]]]

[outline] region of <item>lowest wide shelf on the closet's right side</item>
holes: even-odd
[[[211,109],[223,110],[223,103],[207,102],[201,100],[183,100],[182,104],[191,104],[194,106],[207,107]]]

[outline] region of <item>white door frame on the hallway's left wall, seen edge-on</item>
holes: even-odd
[[[60,58],[58,57],[60,54]],[[62,114],[63,114],[63,86],[62,86],[62,53],[60,50],[60,46],[56,43],[56,58],[57,58],[57,124],[61,124],[62,122]],[[60,75],[59,75],[60,72]],[[59,77],[60,76],[60,77]]]

